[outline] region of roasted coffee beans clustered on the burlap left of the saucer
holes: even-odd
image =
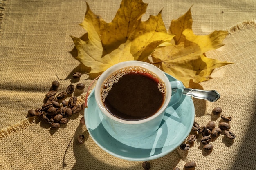
[[[81,77],[81,73],[76,72],[73,73],[73,78],[77,79]],[[58,88],[60,83],[57,80],[52,82],[52,86],[45,94],[46,101],[41,107],[36,108],[35,110],[28,110],[28,117],[37,116],[45,124],[50,124],[52,129],[60,128],[61,124],[67,124],[70,120],[72,114],[79,113],[82,109],[84,109],[84,103],[78,104],[77,97],[72,96],[72,93],[75,90],[75,86],[70,84],[67,86],[65,91],[58,92]],[[85,85],[81,82],[76,84],[76,88],[79,90],[83,90]],[[69,100],[67,96],[71,95]],[[83,142],[82,137],[79,139],[79,143]]]

